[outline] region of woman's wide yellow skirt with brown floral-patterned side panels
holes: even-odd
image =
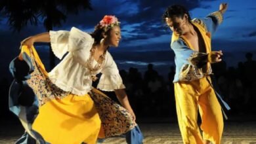
[[[97,137],[125,134],[137,126],[126,109],[95,88],[84,96],[76,96],[54,85],[35,48],[22,46],[18,59],[25,58],[33,71],[22,82],[33,90],[37,113],[26,110],[18,117],[33,138],[47,143],[96,143]]]

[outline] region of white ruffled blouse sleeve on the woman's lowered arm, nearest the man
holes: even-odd
[[[112,56],[107,52],[106,57],[106,64],[102,68],[102,75],[97,88],[104,91],[114,91],[125,88]]]

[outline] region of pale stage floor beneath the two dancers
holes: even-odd
[[[170,123],[142,123],[139,124],[144,134],[143,143],[182,144],[181,134],[177,122]],[[1,126],[0,143],[14,143],[23,133],[21,126],[5,124]],[[104,144],[125,143],[123,137],[106,139]],[[256,121],[226,122],[222,143],[224,144],[253,144],[256,143]]]

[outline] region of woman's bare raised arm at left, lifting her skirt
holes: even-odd
[[[33,46],[33,43],[36,42],[43,42],[43,43],[49,43],[50,40],[50,34],[49,32],[45,32],[45,33],[39,33],[37,35],[33,35],[31,37],[28,37],[27,39],[24,39],[21,42],[21,45],[26,45],[28,46],[28,48],[31,48],[31,46]]]

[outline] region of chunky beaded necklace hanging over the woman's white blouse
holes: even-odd
[[[104,53],[102,55],[100,55],[100,57],[98,58],[98,61],[96,61],[96,65],[95,67],[93,66],[93,61],[95,60],[93,58],[94,54],[95,54],[95,50],[96,50],[96,46],[93,46],[90,50],[90,56],[89,59],[87,60],[87,68],[89,69],[90,73],[91,73],[91,80],[92,81],[96,81],[98,79],[98,77],[96,77],[96,75],[93,74],[93,72],[98,71],[99,69],[102,68],[103,62],[105,60],[105,56],[106,56],[106,50],[104,51]]]

